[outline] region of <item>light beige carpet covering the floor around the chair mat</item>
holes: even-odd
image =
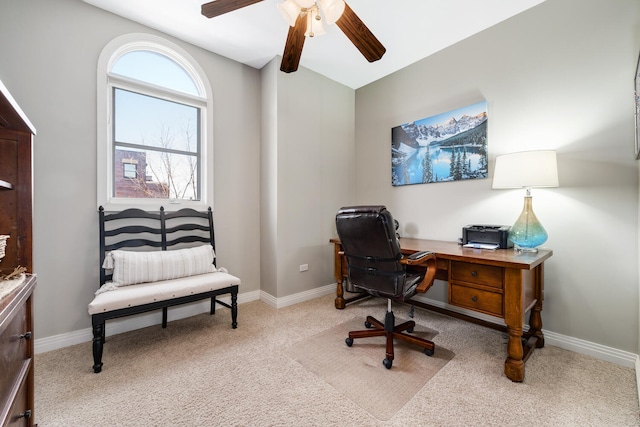
[[[231,329],[228,309],[174,321],[169,310],[167,329],[158,325],[108,336],[100,374],[91,368],[90,340],[37,354],[35,422],[41,427],[640,425],[634,369],[547,344],[527,362],[524,382],[513,383],[503,372],[503,333],[420,309],[416,329],[438,331],[436,354],[448,349],[455,357],[390,420],[379,420],[286,354],[326,330],[367,314],[381,316],[386,309],[385,301],[375,298],[336,310],[334,298],[277,310],[259,301],[240,304],[238,329]],[[404,318],[408,308],[394,306],[394,311]],[[340,336],[336,345],[343,343]],[[343,350],[353,353],[361,345],[364,341]],[[387,371],[378,350],[375,374],[402,374],[413,356],[398,355]],[[415,356],[428,361],[419,351]],[[357,380],[348,368],[343,371]],[[380,406],[386,404],[382,400]]]

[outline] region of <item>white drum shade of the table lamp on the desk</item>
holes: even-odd
[[[558,187],[555,151],[523,151],[496,157],[492,188]]]

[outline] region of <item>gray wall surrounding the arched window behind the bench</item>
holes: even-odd
[[[118,35],[155,33],[78,0],[3,1],[0,79],[37,129],[34,145],[35,329],[90,327],[98,286],[96,66]],[[158,34],[158,33],[156,33]],[[260,72],[165,36],[207,73],[214,93],[218,265],[260,288]],[[247,262],[250,260],[251,262]]]

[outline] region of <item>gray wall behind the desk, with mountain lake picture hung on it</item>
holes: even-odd
[[[491,179],[392,187],[390,129],[486,99],[496,155],[558,152],[560,188],[534,190],[549,233],[544,329],[638,351],[638,166],[633,76],[640,2],[547,0],[356,91],[356,199],[405,236],[455,240],[512,224],[520,190]],[[490,176],[490,178],[491,178]],[[443,299],[443,283],[427,295]]]

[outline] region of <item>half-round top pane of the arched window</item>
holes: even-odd
[[[116,59],[111,72],[189,95],[203,96],[190,73],[163,53],[133,50]]]

